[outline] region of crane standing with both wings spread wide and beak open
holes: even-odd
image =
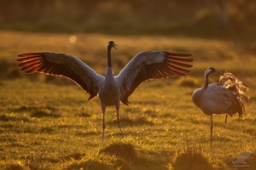
[[[51,76],[61,76],[77,83],[90,99],[98,95],[102,107],[102,145],[104,144],[105,111],[109,105],[114,105],[117,112],[117,121],[120,133],[123,136],[119,123],[119,103],[129,105],[129,96],[134,90],[147,80],[167,77],[182,77],[192,67],[191,54],[174,54],[164,51],[144,51],[135,55],[131,61],[113,76],[111,49],[117,44],[109,41],[107,45],[108,65],[106,76],[103,77],[92,70],[83,61],[69,54],[56,53],[29,53],[19,54],[17,62],[20,71],[26,73],[44,73]]]

